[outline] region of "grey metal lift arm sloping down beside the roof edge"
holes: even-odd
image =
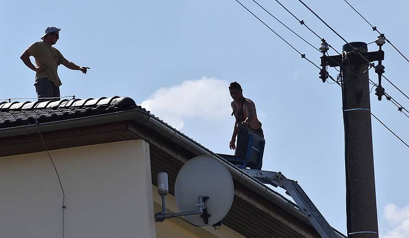
[[[301,211],[308,217],[312,226],[316,231],[324,238],[338,238],[335,231],[328,224],[327,220],[323,217],[321,212],[315,207],[312,201],[308,198],[307,194],[298,185],[297,181],[287,179],[281,172],[263,171],[263,170],[251,170],[242,169],[248,175],[256,178],[264,184],[271,184],[275,187],[279,186],[284,188],[286,194],[291,196],[292,199],[300,207]]]

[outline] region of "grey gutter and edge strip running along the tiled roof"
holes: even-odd
[[[248,187],[256,194],[266,198],[268,201],[276,204],[283,210],[290,213],[292,216],[298,218],[299,220],[303,222],[309,223],[308,218],[304,215],[304,213],[300,211],[299,207],[296,204],[287,200],[281,194],[273,191],[272,189],[270,189],[268,186],[261,183],[257,179],[244,173],[242,170],[237,168],[235,165],[233,165],[229,161],[226,161],[225,159],[213,153],[209,149],[198,144],[196,141],[193,141],[188,136],[177,131],[176,129],[172,128],[168,124],[162,122],[158,118],[152,116],[150,113],[145,112],[143,110],[131,109],[127,111],[113,112],[113,113],[81,117],[81,118],[74,118],[74,119],[58,121],[58,122],[41,123],[40,131],[47,132],[47,131],[54,131],[54,130],[63,130],[63,129],[70,129],[70,128],[75,128],[75,127],[92,126],[92,125],[114,123],[114,122],[120,122],[120,121],[134,121],[138,124],[145,125],[146,127],[159,133],[164,138],[175,142],[175,144],[184,147],[185,149],[187,149],[188,151],[192,152],[195,155],[209,155],[209,156],[212,156],[218,159],[220,162],[222,162],[226,166],[226,168],[229,169],[234,180]],[[18,135],[29,135],[29,134],[34,134],[34,133],[38,133],[36,125],[11,127],[11,128],[0,129],[0,138],[18,136]],[[337,232],[337,233],[340,237],[346,237],[340,232]]]

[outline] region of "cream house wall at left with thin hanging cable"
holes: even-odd
[[[149,145],[50,151],[65,192],[65,237],[155,237]],[[47,152],[0,158],[0,236],[62,237],[62,192]]]

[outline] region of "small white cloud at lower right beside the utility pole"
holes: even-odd
[[[402,208],[388,204],[384,208],[383,217],[390,230],[381,235],[382,238],[409,238],[409,206]]]

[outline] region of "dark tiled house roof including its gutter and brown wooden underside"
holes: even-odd
[[[225,225],[247,237],[255,234],[258,234],[255,237],[271,237],[272,233],[281,237],[318,237],[296,204],[172,128],[131,98],[0,102],[0,139],[8,138],[0,144],[0,157],[42,151],[36,122],[40,125],[41,134],[44,132],[43,137],[50,150],[127,139],[147,140],[151,150],[152,183],[156,182],[157,172],[169,171],[171,193],[177,172],[188,159],[211,155],[226,165],[235,181],[235,200],[231,212],[223,220]],[[121,126],[120,122],[133,124]],[[100,125],[104,125],[103,129]],[[75,128],[78,128],[77,132],[73,132]],[[88,132],[84,132],[86,130]],[[93,135],[86,136],[87,133]],[[169,148],[176,152],[166,149],[167,144],[172,144]],[[255,216],[254,221],[246,220],[252,219],[251,216]],[[283,224],[285,229],[278,228]],[[251,231],[253,233],[248,233]]]

